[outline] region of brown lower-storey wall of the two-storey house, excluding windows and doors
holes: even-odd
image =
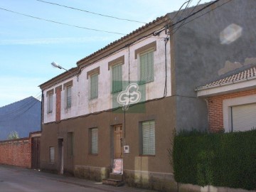
[[[75,174],[78,177],[102,180],[111,171],[114,160],[113,127],[122,124],[123,144],[129,145],[129,154],[124,154],[124,170],[126,176],[137,175],[138,171],[151,173],[151,179],[155,173],[156,178],[173,173],[170,165],[169,153],[171,139],[174,136],[175,118],[175,97],[165,97],[161,100],[146,102],[146,111],[142,113],[102,112],[90,114],[87,117],[66,119],[58,123],[43,124],[41,136],[41,169],[59,171],[59,145],[58,139],[63,138],[63,160],[64,172]],[[132,107],[130,107],[132,109]],[[155,148],[154,156],[140,155],[139,126],[147,120],[155,121]],[[90,154],[90,128],[98,129],[98,154]],[[74,154],[68,155],[68,132],[74,134]],[[50,163],[50,146],[55,147],[55,161]],[[94,171],[93,171],[94,170]],[[88,173],[95,172],[95,177],[88,176]],[[129,172],[129,174],[127,174]],[[164,174],[163,174],[164,173]],[[127,178],[127,177],[126,177]],[[169,177],[166,177],[166,179]],[[128,178],[127,178],[128,180]],[[174,181],[173,178],[167,179]],[[134,181],[137,183],[137,181]],[[140,181],[138,181],[140,182]],[[174,184],[175,185],[175,184]]]

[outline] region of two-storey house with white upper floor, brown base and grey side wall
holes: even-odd
[[[176,12],[166,14],[40,85],[41,169],[99,181],[113,171],[132,186],[176,188],[174,132],[208,127],[196,87],[255,64],[243,64],[256,60],[255,7],[210,2],[177,24]]]

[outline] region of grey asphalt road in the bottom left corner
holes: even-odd
[[[84,179],[0,165],[1,192],[149,192],[137,188],[105,186]]]

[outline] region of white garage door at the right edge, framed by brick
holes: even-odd
[[[233,132],[256,129],[256,103],[232,107]]]

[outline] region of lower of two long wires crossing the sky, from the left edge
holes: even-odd
[[[103,31],[103,30],[100,30],[100,29],[96,29],[96,28],[87,28],[87,27],[84,27],[84,26],[75,26],[75,25],[71,25],[71,24],[68,24],[68,23],[62,23],[62,22],[59,22],[59,21],[53,21],[53,20],[50,20],[50,19],[46,19],[46,18],[40,18],[40,17],[37,17],[37,16],[31,16],[31,15],[28,15],[28,14],[21,14],[19,12],[16,12],[16,11],[11,11],[9,9],[4,9],[2,7],[0,7],[1,10],[4,10],[4,11],[8,11],[8,12],[11,12],[13,14],[18,14],[18,15],[21,15],[21,16],[27,16],[27,17],[30,17],[30,18],[36,18],[38,20],[42,20],[42,21],[48,21],[50,23],[57,23],[57,24],[60,24],[60,25],[63,25],[63,26],[71,26],[71,27],[75,27],[75,28],[82,28],[82,29],[86,29],[86,30],[90,30],[90,31],[99,31],[99,32],[104,32],[104,33],[113,33],[113,34],[118,34],[118,35],[127,35],[125,33],[118,33],[118,32],[114,32],[114,31]]]

